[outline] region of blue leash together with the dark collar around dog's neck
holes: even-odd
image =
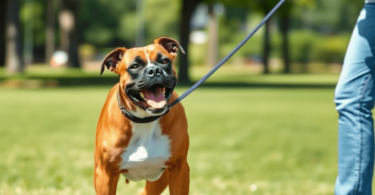
[[[286,0],[280,0],[278,4],[266,15],[266,17],[263,18],[263,20],[227,55],[225,58],[223,58],[209,73],[207,73],[203,78],[201,78],[198,82],[196,82],[192,87],[190,87],[184,94],[182,94],[179,98],[177,98],[174,102],[172,102],[168,106],[168,111],[165,112],[162,115],[159,116],[152,116],[152,117],[146,117],[146,118],[139,118],[134,115],[132,115],[129,111],[127,111],[122,105],[119,100],[119,94],[117,92],[117,102],[119,104],[120,110],[122,114],[128,118],[129,120],[135,122],[135,123],[149,123],[152,121],[155,121],[159,119],[160,117],[164,116],[169,112],[169,110],[179,103],[181,100],[183,100],[186,96],[188,96],[191,92],[193,92],[196,88],[199,87],[204,81],[206,81],[212,74],[214,74],[217,69],[219,69],[230,57],[233,56],[259,29],[264,25],[264,23],[267,22],[268,19],[280,8],[280,6],[285,2]]]

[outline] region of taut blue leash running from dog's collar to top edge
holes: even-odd
[[[179,98],[177,98],[174,102],[172,102],[169,105],[169,108],[171,108],[172,106],[176,105],[178,102],[183,100],[186,96],[188,96],[191,92],[193,92],[197,87],[199,87],[199,85],[201,85],[204,81],[206,81],[213,73],[215,73],[217,69],[219,69],[226,61],[228,61],[228,59],[232,57],[233,54],[236,53],[259,30],[260,27],[263,26],[263,24],[266,23],[268,19],[270,19],[270,17],[276,12],[276,10],[280,8],[280,6],[285,1],[286,0],[280,0],[280,2],[266,15],[266,17],[264,17],[264,19],[254,28],[253,31],[251,31],[250,34],[248,34],[245,37],[245,39],[243,39],[241,43],[238,44],[237,47],[233,49],[232,52],[230,52],[227,56],[225,56],[225,58],[222,59],[208,74],[206,74],[206,76],[201,78],[192,87],[190,87],[190,89],[188,89],[184,94],[182,94]]]

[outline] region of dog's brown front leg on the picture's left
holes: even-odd
[[[94,183],[97,195],[116,195],[118,173],[111,173],[110,170],[98,165],[95,167]]]

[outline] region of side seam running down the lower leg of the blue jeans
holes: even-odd
[[[363,102],[363,96],[365,93],[365,90],[367,88],[367,84],[370,80],[371,74],[367,74],[365,76],[365,82],[363,83],[363,89],[360,91],[360,99],[358,103],[358,113],[357,113],[357,119],[358,119],[358,131],[359,131],[359,154],[358,154],[358,169],[356,170],[357,172],[357,179],[356,179],[356,185],[355,189],[353,191],[353,195],[358,194],[358,188],[359,188],[359,179],[360,179],[360,170],[361,170],[361,153],[362,153],[362,130],[361,130],[361,107],[362,107],[362,102]]]

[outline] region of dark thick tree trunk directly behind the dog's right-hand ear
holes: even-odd
[[[179,56],[178,79],[181,82],[190,82],[189,78],[189,35],[190,35],[190,18],[195,7],[201,0],[183,0],[180,20],[180,44],[184,48],[186,55]]]

